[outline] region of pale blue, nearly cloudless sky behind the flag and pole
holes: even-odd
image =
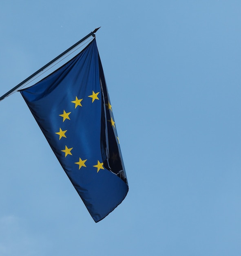
[[[241,2],[0,2],[0,94],[96,33],[129,183],[95,223],[19,92],[0,102],[1,256],[241,255]]]

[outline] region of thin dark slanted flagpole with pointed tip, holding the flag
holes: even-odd
[[[55,61],[57,61],[59,58],[61,58],[62,56],[64,56],[64,54],[66,54],[67,52],[71,51],[73,48],[75,48],[77,45],[79,45],[80,43],[82,43],[84,40],[86,40],[87,38],[89,38],[90,36],[95,37],[95,32],[99,29],[100,27],[98,27],[97,29],[95,29],[94,31],[92,31],[91,33],[89,33],[87,36],[85,36],[84,38],[82,38],[80,41],[78,41],[77,43],[75,43],[74,45],[72,45],[71,47],[69,47],[66,51],[62,52],[62,54],[60,54],[59,56],[57,56],[56,58],[54,58],[52,61],[50,61],[49,63],[47,63],[46,65],[44,65],[43,67],[41,67],[39,70],[37,70],[35,73],[33,73],[31,76],[29,76],[28,78],[26,78],[24,81],[22,81],[21,83],[19,83],[18,85],[16,85],[14,88],[12,88],[11,90],[9,90],[8,92],[6,92],[4,95],[2,95],[0,97],[0,101],[2,101],[4,98],[6,98],[7,96],[9,96],[9,94],[11,94],[12,92],[14,92],[15,90],[17,90],[18,88],[20,88],[21,85],[23,85],[24,83],[27,83],[27,81],[29,81],[31,78],[33,78],[34,76],[36,76],[37,74],[39,74],[40,72],[42,72],[43,70],[46,69],[46,67],[49,67],[51,64],[53,64]]]

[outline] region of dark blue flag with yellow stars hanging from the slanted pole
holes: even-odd
[[[92,218],[102,220],[128,182],[95,39],[20,93]]]

